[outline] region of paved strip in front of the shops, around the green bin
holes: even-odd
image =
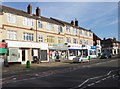
[[[91,61],[98,60],[98,59],[91,59]],[[61,67],[61,66],[69,66],[70,63],[73,61],[71,60],[61,60],[61,62],[42,62],[39,64],[31,64],[30,68],[26,68],[25,64],[10,64],[9,67],[2,67],[2,73],[12,73],[12,72],[22,72],[22,71],[29,71],[34,69],[43,69],[43,68],[50,68],[50,67]]]

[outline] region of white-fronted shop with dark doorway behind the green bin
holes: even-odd
[[[8,43],[8,62],[26,64],[40,60],[40,47],[39,43],[35,42],[21,42],[9,41]]]

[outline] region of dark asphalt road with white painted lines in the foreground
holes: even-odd
[[[119,59],[100,59],[89,63],[72,63],[67,66],[36,69],[27,72],[4,74],[3,89],[99,89],[116,88],[120,83]]]

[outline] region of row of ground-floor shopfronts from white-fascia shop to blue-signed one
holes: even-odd
[[[35,62],[50,62],[55,59],[66,60],[71,56],[84,55],[97,57],[96,46],[79,44],[47,44],[6,40],[8,62],[25,64],[28,60]],[[100,49],[100,48],[99,48]]]

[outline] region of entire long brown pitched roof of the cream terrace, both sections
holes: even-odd
[[[68,23],[68,22],[65,22],[65,21],[62,21],[62,20],[58,20],[58,19],[55,19],[55,18],[52,18],[52,17],[50,17],[50,18],[47,18],[47,17],[44,17],[44,16],[38,17],[35,14],[28,14],[27,12],[25,12],[23,10],[18,10],[18,9],[7,7],[7,6],[4,6],[4,5],[0,5],[0,7],[2,7],[2,9],[0,9],[0,12],[8,12],[8,13],[12,13],[12,14],[20,15],[20,16],[25,16],[25,17],[28,17],[28,18],[33,18],[33,19],[37,19],[37,20],[41,20],[41,21],[45,21],[45,22],[49,22],[49,23],[54,23],[54,24],[57,24],[57,25],[62,25],[62,26],[69,25],[69,26],[72,26],[72,27],[75,27],[75,28],[78,28],[78,29],[83,29],[83,30],[92,32],[91,30],[87,30],[87,29],[85,29],[83,27],[79,27],[79,26],[74,26],[71,23]]]

